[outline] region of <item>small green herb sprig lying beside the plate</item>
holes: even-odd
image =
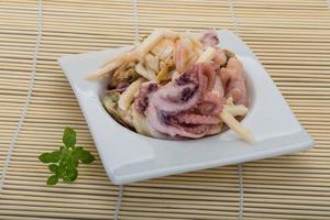
[[[48,164],[52,175],[47,179],[47,185],[55,185],[59,179],[64,183],[73,183],[78,177],[79,163],[90,164],[95,161],[94,155],[76,146],[76,132],[72,128],[66,128],[63,133],[63,146],[51,153],[43,153],[38,156],[42,163]]]

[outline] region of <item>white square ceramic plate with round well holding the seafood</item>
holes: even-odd
[[[124,48],[59,58],[113,184],[261,160],[314,146],[314,141],[250,48],[230,31],[218,34],[220,46],[238,55],[248,75],[252,105],[242,123],[252,131],[254,144],[240,141],[232,131],[194,141],[165,141],[134,133],[117,123],[105,110],[99,97],[101,84],[85,80],[106,57]]]

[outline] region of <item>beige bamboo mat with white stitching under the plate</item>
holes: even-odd
[[[42,12],[42,14],[40,14]],[[42,25],[40,25],[42,24]],[[132,44],[152,29],[237,32],[317,146],[123,187],[119,219],[330,219],[330,2],[327,0],[0,0],[0,219],[113,219],[118,186],[99,161],[45,185],[41,152],[77,130],[97,155],[56,59]],[[243,196],[243,200],[240,199]]]

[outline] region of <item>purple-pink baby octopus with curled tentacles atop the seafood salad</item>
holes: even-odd
[[[200,63],[165,86],[143,84],[134,105],[160,133],[173,139],[198,139],[219,123],[222,97],[212,92],[215,85],[212,65]]]

